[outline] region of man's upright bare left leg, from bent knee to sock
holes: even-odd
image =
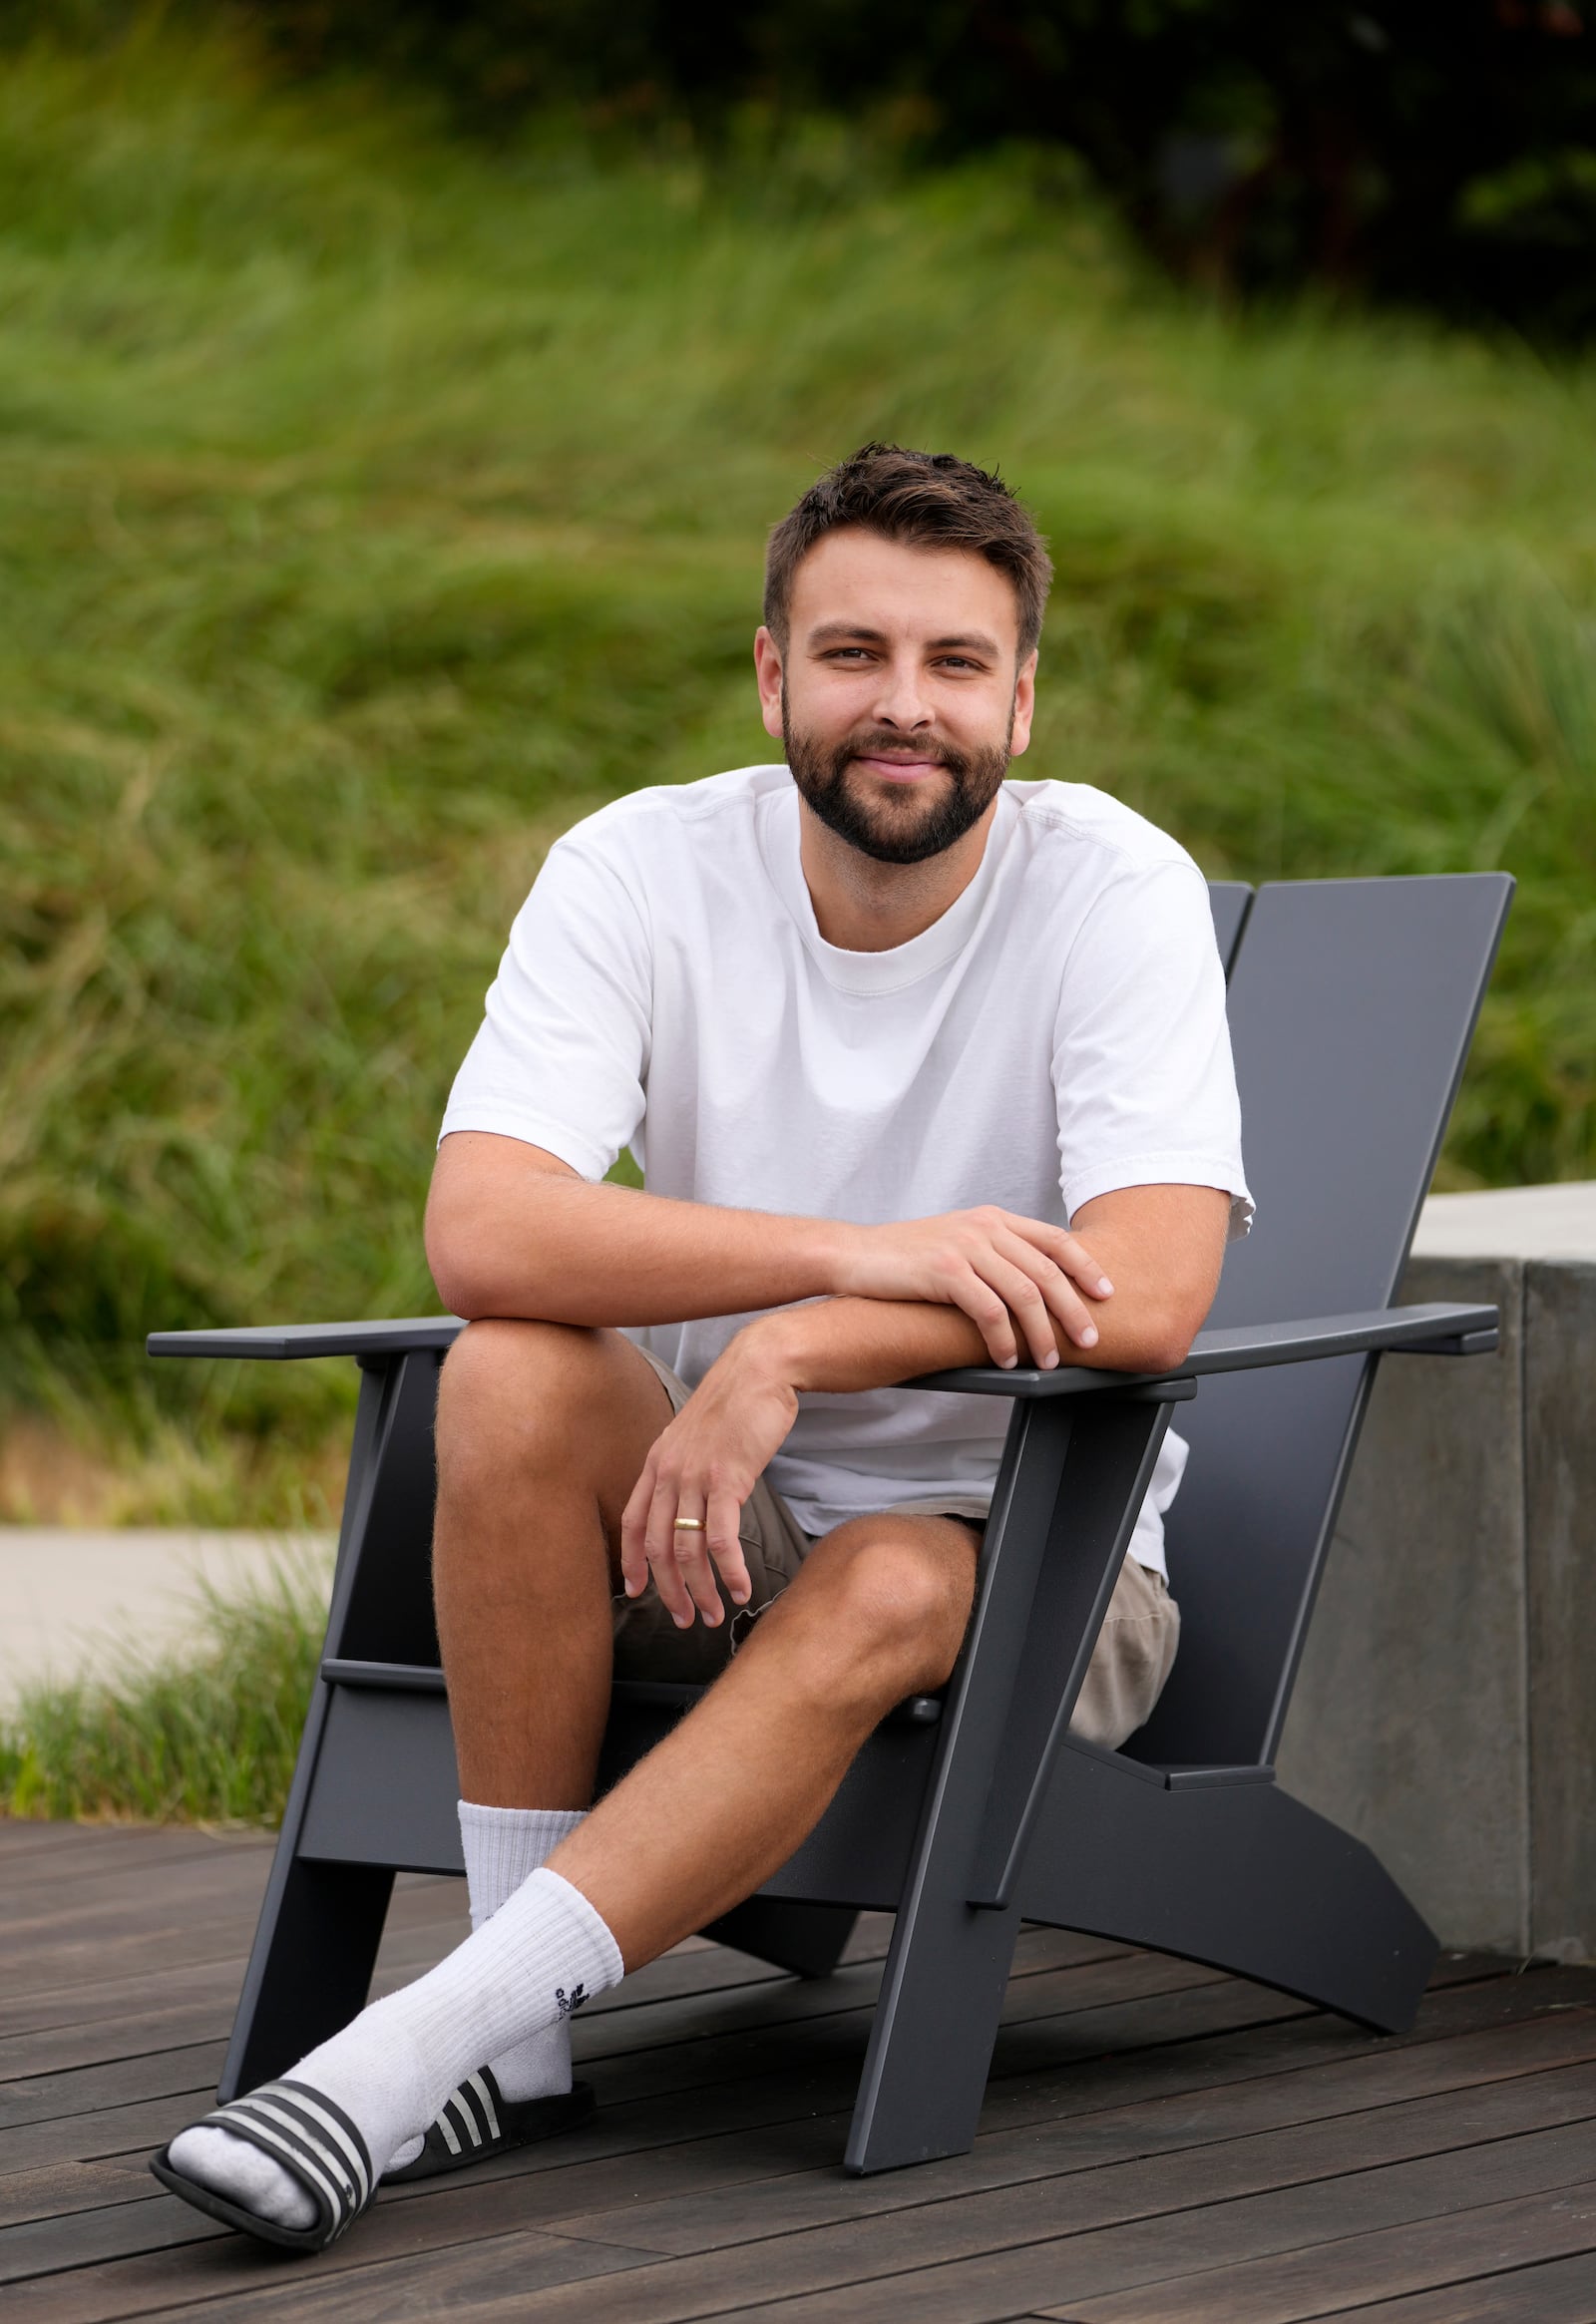
[[[432,1590],[460,1789],[585,1808],[609,1715],[620,1513],[671,1401],[618,1332],[474,1322],[437,1411]]]

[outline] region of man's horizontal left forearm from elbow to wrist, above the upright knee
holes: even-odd
[[[848,1229],[832,1220],[590,1185],[537,1148],[499,1148],[513,1141],[439,1157],[432,1181],[427,1260],[458,1315],[688,1322],[790,1306],[839,1283]]]

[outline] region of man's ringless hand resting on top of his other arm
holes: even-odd
[[[1059,1360],[1055,1325],[1076,1348],[1094,1348],[1087,1299],[1108,1299],[1113,1283],[1066,1227],[985,1204],[848,1227],[836,1290],[957,1306],[978,1325],[994,1364],[1018,1364],[1025,1343],[1031,1362],[1050,1371]]]

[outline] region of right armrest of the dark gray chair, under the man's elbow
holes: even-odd
[[[1199,1332],[1185,1364],[1173,1371],[1090,1371],[1059,1364],[1057,1371],[969,1364],[927,1371],[908,1387],[934,1387],[959,1397],[1090,1397],[1108,1387],[1145,1387],[1155,1380],[1194,1380],[1213,1371],[1259,1371],[1266,1364],[1315,1364],[1329,1355],[1491,1355],[1498,1343],[1494,1306],[1371,1308],[1364,1315],[1313,1315],[1303,1322],[1236,1325]]]

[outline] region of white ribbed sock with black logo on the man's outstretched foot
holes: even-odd
[[[448,1959],[374,2001],[283,2080],[309,2082],[342,2106],[381,2175],[483,2059],[569,2017],[620,1975],[620,1948],[602,1915],[544,1866]],[[309,2194],[281,2164],[211,2124],[174,2138],[172,2164],[279,2226],[309,2226],[316,2217]]]

